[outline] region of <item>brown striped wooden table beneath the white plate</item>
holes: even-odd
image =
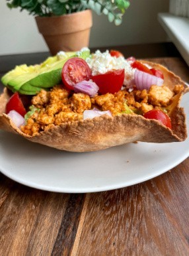
[[[152,60],[189,81],[188,66],[169,46],[145,46],[146,56],[162,53]],[[118,49],[129,56],[135,48],[142,58],[140,47]],[[34,56],[47,54],[2,56],[0,73]],[[188,166],[186,159],[147,182],[90,194],[45,192],[0,174],[0,255],[189,255]]]

